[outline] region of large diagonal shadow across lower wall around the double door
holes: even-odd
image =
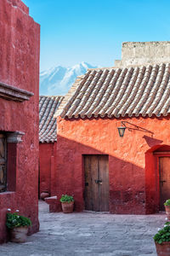
[[[149,140],[150,137],[147,137]],[[158,141],[158,140],[156,140]],[[122,148],[123,150],[123,148]],[[57,166],[54,180],[52,181],[52,195],[60,197],[62,194],[75,196],[76,211],[84,210],[84,165],[83,154],[108,154],[96,150],[82,143],[71,141],[58,135]],[[122,152],[123,154],[123,152]],[[143,153],[144,154],[144,153]],[[156,177],[154,169],[150,177],[137,164],[122,160],[115,155],[109,155],[109,183],[110,183],[110,212],[145,214],[156,211],[157,201],[147,204],[151,195],[156,195]],[[146,177],[145,177],[146,176]],[[146,180],[150,180],[147,183]],[[151,191],[151,192],[150,192]],[[147,196],[146,196],[147,193]]]

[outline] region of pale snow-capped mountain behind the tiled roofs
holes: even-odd
[[[94,66],[81,62],[73,67],[53,67],[40,73],[40,95],[65,95],[71,88],[77,76],[86,73],[88,68]]]

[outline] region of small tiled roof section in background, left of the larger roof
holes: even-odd
[[[54,113],[59,108],[63,96],[39,97],[39,142],[54,143],[57,141],[57,127]]]

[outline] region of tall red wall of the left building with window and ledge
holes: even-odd
[[[40,26],[20,0],[0,0],[0,82],[34,93],[30,101],[0,97],[0,131],[23,131],[23,143],[8,143],[8,192],[0,193],[0,242],[7,241],[7,208],[31,218],[38,230],[38,103]],[[14,171],[14,172],[13,172]]]

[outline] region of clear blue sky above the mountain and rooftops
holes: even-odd
[[[170,40],[169,0],[23,0],[41,25],[40,69],[111,67],[122,42]]]

